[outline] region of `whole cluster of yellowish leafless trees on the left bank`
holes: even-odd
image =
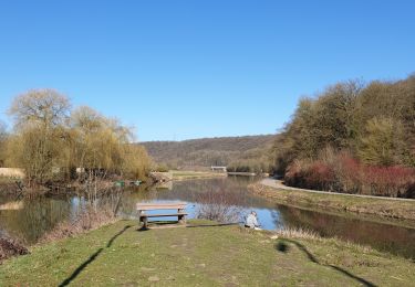
[[[21,168],[29,187],[90,178],[143,179],[151,160],[133,145],[133,130],[53,89],[17,96],[8,110],[11,131],[0,127],[0,164]]]

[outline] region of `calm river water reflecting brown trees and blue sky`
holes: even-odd
[[[262,226],[274,230],[282,226],[305,227],[322,236],[339,236],[375,248],[390,251],[407,257],[415,257],[415,230],[390,224],[374,223],[332,214],[305,211],[278,205],[247,190],[252,178],[227,178],[174,182],[170,187],[132,188],[115,190],[95,201],[97,206],[112,206],[124,217],[135,219],[135,204],[152,201],[186,201],[189,217],[194,217],[198,206],[198,194],[217,189],[226,189],[237,195],[238,204],[248,213],[257,211]],[[0,198],[0,205],[13,202],[12,198]],[[63,220],[76,220],[80,210],[91,199],[82,196],[54,196],[23,201],[21,209],[0,210],[0,232],[37,242],[45,232]]]

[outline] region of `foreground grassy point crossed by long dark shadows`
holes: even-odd
[[[0,266],[1,286],[396,286],[414,263],[335,240],[301,238],[238,226],[139,232],[120,221],[32,248]]]

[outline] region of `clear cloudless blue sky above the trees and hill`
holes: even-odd
[[[276,132],[299,97],[415,72],[415,1],[1,1],[0,119],[51,87],[139,140]]]

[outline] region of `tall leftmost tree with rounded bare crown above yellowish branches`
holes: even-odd
[[[69,111],[68,97],[54,89],[29,91],[12,102],[14,132],[8,142],[8,162],[25,170],[30,185],[44,183],[60,166]]]

